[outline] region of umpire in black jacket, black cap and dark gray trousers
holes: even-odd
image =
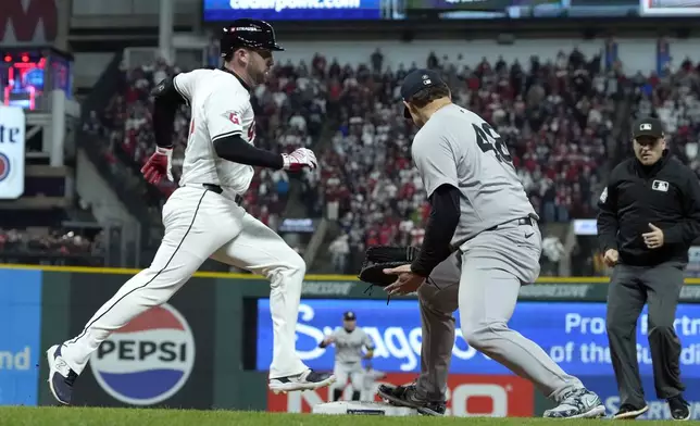
[[[649,305],[649,347],[657,396],[674,419],[690,418],[680,381],[680,341],[673,323],[688,263],[700,236],[700,184],[666,149],[662,123],[642,118],[633,127],[635,158],[618,164],[598,202],[598,238],[607,265],[608,339],[620,411],[635,418],[649,410],[637,363],[637,320]]]

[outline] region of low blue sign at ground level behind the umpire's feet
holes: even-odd
[[[683,375],[685,377],[685,375]],[[600,396],[600,399],[605,404],[605,412],[609,414],[616,413],[620,410],[620,394],[617,393],[617,384],[614,376],[593,376],[585,377],[584,385],[593,392]],[[700,380],[697,378],[684,379],[686,391],[684,392],[685,399],[690,404],[690,419],[700,419]],[[645,388],[645,396],[649,411],[639,416],[640,419],[648,421],[667,421],[671,419],[671,412],[666,401],[657,399],[654,391],[653,378],[643,376],[641,384]]]

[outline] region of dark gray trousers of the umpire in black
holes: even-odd
[[[678,364],[680,340],[673,327],[683,281],[678,262],[615,266],[608,287],[607,327],[621,404],[647,404],[637,362],[637,321],[646,303],[657,397],[668,399],[685,390]]]

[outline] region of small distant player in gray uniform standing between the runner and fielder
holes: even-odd
[[[348,384],[348,378],[352,383],[352,400],[360,401],[360,392],[364,388],[364,368],[362,359],[372,360],[374,342],[362,328],[358,328],[358,318],[352,311],[342,315],[342,327],[336,328],[335,331],[318,344],[320,348],[326,348],[328,344],[336,346],[336,363],[334,372],[336,383],[330,387],[333,389],[333,400],[338,401],[342,396],[342,390]],[[362,348],[366,353],[362,354]]]

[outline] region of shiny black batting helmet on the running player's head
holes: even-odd
[[[275,40],[272,25],[259,20],[236,20],[222,29],[220,40],[221,55],[226,57],[239,48],[285,50]]]

